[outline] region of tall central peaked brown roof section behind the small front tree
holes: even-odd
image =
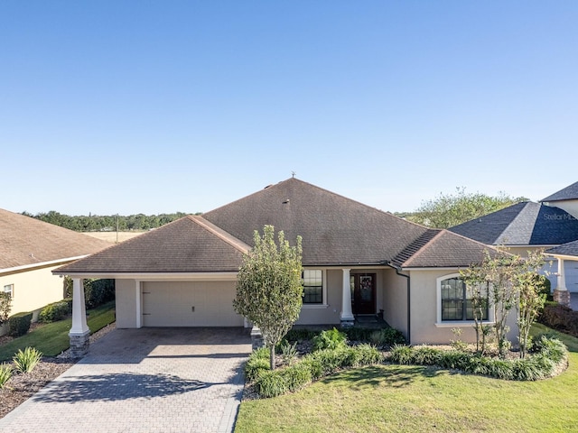
[[[304,265],[375,264],[391,260],[427,228],[291,178],[203,215],[253,244],[255,230],[303,237]]]

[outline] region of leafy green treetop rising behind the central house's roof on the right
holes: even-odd
[[[503,192],[496,197],[479,192],[468,194],[462,187],[457,188],[455,194],[440,194],[437,198],[424,201],[407,219],[433,228],[449,228],[521,201],[528,199],[512,198]]]

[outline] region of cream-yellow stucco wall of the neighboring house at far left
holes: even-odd
[[[34,311],[64,298],[63,279],[52,275],[52,270],[61,266],[50,266],[26,272],[14,272],[0,276],[0,290],[14,284],[11,315],[23,311]]]

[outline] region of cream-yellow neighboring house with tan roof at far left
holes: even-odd
[[[0,209],[0,290],[12,297],[11,315],[38,313],[63,299],[63,280],[52,271],[108,246],[88,235]]]

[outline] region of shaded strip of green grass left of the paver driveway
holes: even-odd
[[[115,321],[115,301],[108,302],[96,309],[89,309],[90,333],[106,327]],[[25,336],[14,338],[10,343],[0,346],[0,363],[10,361],[18,349],[27,346],[35,347],[45,356],[60,355],[70,347],[69,331],[72,319],[67,318],[58,322],[48,323],[34,329]]]

